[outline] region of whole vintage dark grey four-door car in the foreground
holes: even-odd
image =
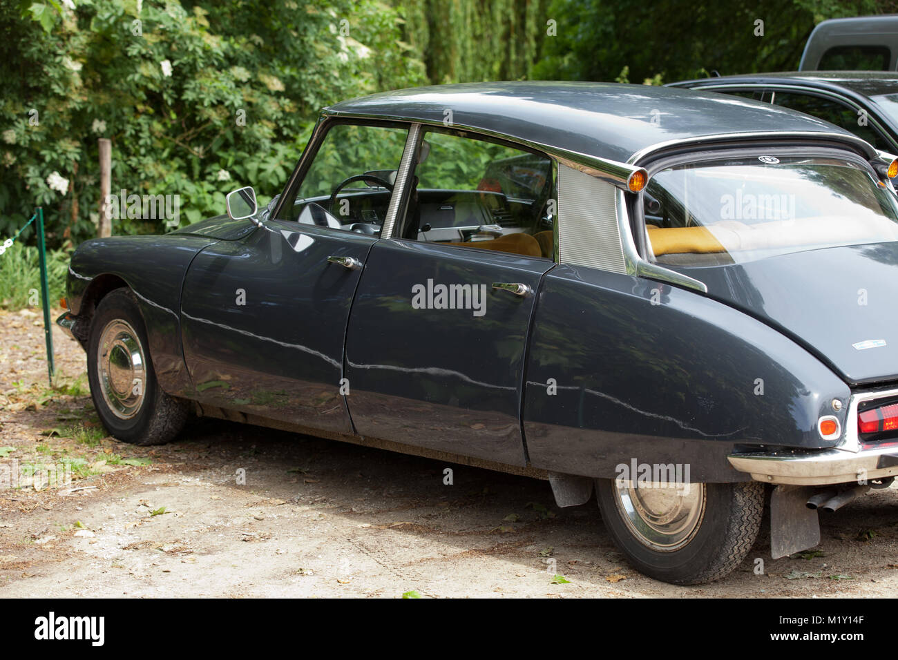
[[[716,93],[384,92],[325,109],[269,207],[84,242],[59,322],[122,441],[192,410],[532,476],[700,583],[768,488],[782,557],[898,474],[896,173]]]

